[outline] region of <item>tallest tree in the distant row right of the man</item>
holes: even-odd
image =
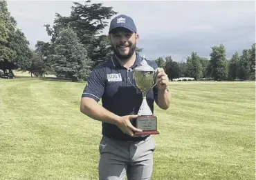
[[[226,49],[223,44],[212,47],[208,68],[210,68],[210,77],[214,78],[214,81],[226,79],[228,72],[226,68]]]

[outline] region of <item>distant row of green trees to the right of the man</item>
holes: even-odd
[[[192,52],[186,61],[176,62],[172,56],[159,57],[154,60],[159,67],[164,68],[172,80],[179,77],[193,77],[199,79],[213,79],[214,81],[255,80],[255,43],[250,49],[244,49],[226,58],[226,49],[223,44],[213,46],[210,58],[199,57]]]

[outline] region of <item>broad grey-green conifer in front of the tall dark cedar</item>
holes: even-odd
[[[89,76],[91,59],[86,48],[80,43],[77,34],[71,29],[63,29],[56,38],[53,54],[53,68],[57,77],[65,77],[75,81]]]

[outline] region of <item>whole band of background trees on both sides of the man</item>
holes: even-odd
[[[103,3],[73,2],[68,17],[56,13],[53,26],[44,25],[51,41],[37,41],[33,50],[8,12],[7,1],[0,1],[0,69],[28,71],[36,77],[55,74],[73,81],[86,80],[91,70],[113,53],[102,31],[109,26],[107,20],[117,13]],[[142,52],[143,48],[136,51]],[[152,61],[165,68],[170,79],[255,79],[255,43],[241,55],[236,52],[232,59],[226,59],[226,50],[221,44],[212,47],[210,59],[192,52],[186,61],[176,62],[171,56]]]

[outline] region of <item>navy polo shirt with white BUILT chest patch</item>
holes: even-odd
[[[136,53],[136,61],[130,68],[138,66],[140,61],[140,54]],[[154,69],[158,68],[153,61],[147,60],[147,63]],[[97,102],[102,99],[102,106],[118,116],[137,114],[143,97],[134,85],[135,80],[132,72],[121,66],[116,57],[112,56],[91,72],[82,97],[90,97]],[[154,101],[157,99],[157,93],[157,86],[154,86],[147,93],[147,104],[152,112],[154,112]],[[123,133],[118,126],[105,122],[102,122],[102,134],[121,141],[145,139],[145,137],[130,137]]]

